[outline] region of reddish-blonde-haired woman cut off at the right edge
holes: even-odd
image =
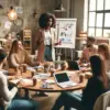
[[[98,46],[98,53],[103,56],[106,62],[106,70],[110,72],[110,47],[107,43],[102,43]]]

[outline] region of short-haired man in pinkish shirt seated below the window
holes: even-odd
[[[95,37],[87,37],[87,44],[86,47],[82,50],[82,55],[79,59],[79,64],[81,63],[89,63],[89,57],[94,54],[97,54],[98,46],[96,45],[96,38]]]

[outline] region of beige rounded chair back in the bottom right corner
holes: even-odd
[[[110,91],[98,97],[94,106],[94,110],[108,110],[107,107],[110,107]]]

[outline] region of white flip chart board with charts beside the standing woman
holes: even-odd
[[[61,45],[55,47],[75,48],[77,19],[56,19],[57,40]]]

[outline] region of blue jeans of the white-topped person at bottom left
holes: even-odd
[[[8,110],[40,110],[38,103],[34,100],[13,99]]]

